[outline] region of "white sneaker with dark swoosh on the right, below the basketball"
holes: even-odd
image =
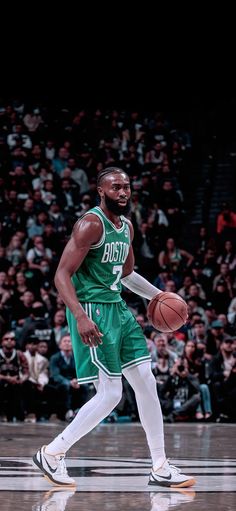
[[[194,477],[186,476],[180,469],[170,465],[168,460],[159,468],[153,468],[149,476],[150,485],[165,486],[169,488],[186,488],[196,483]]]

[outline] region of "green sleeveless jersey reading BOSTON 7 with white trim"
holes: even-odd
[[[82,265],[72,276],[80,302],[115,303],[121,301],[121,276],[130,248],[130,229],[125,217],[117,229],[96,206],[88,213],[97,215],[103,226],[101,239],[92,245]]]

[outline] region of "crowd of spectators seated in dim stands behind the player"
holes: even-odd
[[[93,392],[77,384],[53,276],[74,223],[98,204],[97,173],[113,165],[131,179],[137,271],[189,306],[188,324],[164,335],[148,323],[146,301],[123,291],[147,339],[165,420],[235,420],[236,213],[222,205],[215,232],[199,226],[189,251],[191,157],[190,133],[160,113],[0,104],[2,420],[71,420]],[[138,420],[124,381],[110,420],[126,415]]]

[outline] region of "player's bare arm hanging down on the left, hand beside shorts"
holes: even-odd
[[[101,236],[102,224],[95,215],[88,214],[78,221],[63,251],[55,275],[55,286],[63,302],[77,320],[82,341],[89,346],[100,343],[102,334],[79,303],[71,277],[81,266],[90,247],[97,243]]]

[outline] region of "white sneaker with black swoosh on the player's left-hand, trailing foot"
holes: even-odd
[[[35,465],[42,470],[44,476],[49,479],[50,482],[61,486],[75,486],[75,480],[69,477],[67,473],[65,455],[57,454],[56,456],[52,456],[51,454],[46,454],[45,447],[45,445],[41,447],[33,456]]]

